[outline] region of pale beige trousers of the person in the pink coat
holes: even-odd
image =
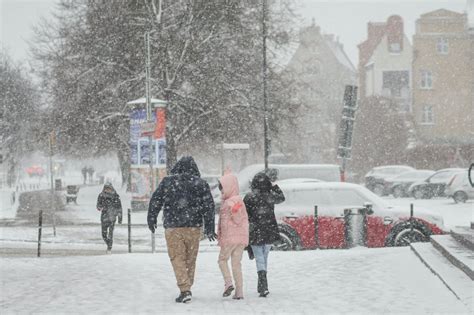
[[[232,275],[235,281],[235,295],[243,296],[243,279],[242,279],[242,253],[244,252],[245,245],[227,245],[221,246],[219,253],[219,268],[221,269],[222,276],[226,285],[232,284],[232,276],[230,274],[229,266],[227,261],[231,259]]]

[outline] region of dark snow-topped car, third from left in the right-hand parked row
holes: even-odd
[[[462,168],[445,168],[439,170],[427,179],[413,183],[408,189],[408,194],[416,199],[445,197],[444,190],[446,189],[446,185],[454,174],[463,170]]]

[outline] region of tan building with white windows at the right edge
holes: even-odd
[[[413,114],[420,144],[474,144],[474,35],[467,15],[422,14],[413,36]]]

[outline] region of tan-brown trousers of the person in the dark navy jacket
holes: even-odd
[[[168,228],[165,230],[168,256],[181,292],[190,291],[194,283],[200,236],[201,229],[197,227]]]

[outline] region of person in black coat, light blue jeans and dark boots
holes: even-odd
[[[257,263],[257,291],[260,297],[266,297],[269,294],[268,254],[272,244],[280,239],[275,218],[275,204],[285,201],[285,196],[278,185],[272,185],[264,172],[255,175],[250,186],[252,191],[244,198],[249,216],[249,244]]]

